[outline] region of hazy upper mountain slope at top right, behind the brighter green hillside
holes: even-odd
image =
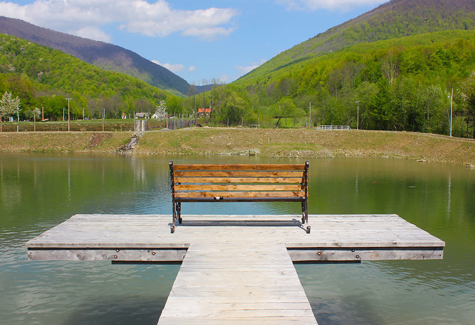
[[[295,45],[238,80],[271,73],[358,43],[454,29],[475,29],[475,1],[392,0]]]

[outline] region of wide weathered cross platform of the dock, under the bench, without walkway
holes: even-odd
[[[78,214],[28,241],[30,260],[182,261],[192,243],[284,244],[296,261],[441,259],[445,243],[392,215],[186,215],[170,234],[169,215]]]

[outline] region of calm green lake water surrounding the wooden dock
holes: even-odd
[[[179,265],[28,262],[24,244],[76,213],[170,214],[169,160],[304,162],[0,154],[0,323],[156,324]],[[443,260],[296,265],[320,324],[473,323],[475,169],[385,158],[311,159],[309,191],[311,214],[397,213],[447,245]],[[182,213],[298,215],[299,209],[289,203],[183,204]]]

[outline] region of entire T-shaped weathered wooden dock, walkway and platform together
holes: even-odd
[[[313,323],[293,262],[442,259],[445,243],[397,215],[75,215],[26,243],[29,260],[180,262],[160,317]],[[206,320],[205,320],[206,319]]]

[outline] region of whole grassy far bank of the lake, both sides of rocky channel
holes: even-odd
[[[0,133],[0,151],[115,152],[130,132]],[[475,164],[475,141],[391,131],[185,128],[148,131],[135,153],[260,155],[265,157],[379,156]]]

